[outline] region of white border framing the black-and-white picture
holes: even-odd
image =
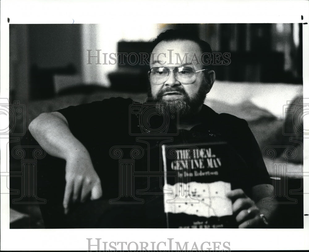
[[[6,1],[1,3],[1,91],[9,97],[9,23],[308,23],[307,1]],[[135,7],[133,13],[132,6]],[[301,16],[303,15],[303,19]],[[309,25],[303,24],[303,93],[309,94]],[[308,97],[304,97],[308,98]],[[8,120],[8,119],[7,119]],[[305,126],[304,126],[305,127]],[[1,171],[8,159],[1,139]],[[308,171],[308,139],[304,141],[304,169]],[[307,154],[306,154],[307,153]],[[2,178],[1,178],[2,182]],[[1,190],[6,190],[1,183]],[[304,177],[309,192],[309,173]],[[309,194],[304,194],[304,214]],[[87,250],[86,238],[101,241],[230,242],[231,250],[308,249],[309,216],[304,229],[10,229],[9,195],[1,194],[1,250]],[[175,249],[175,248],[174,248]]]

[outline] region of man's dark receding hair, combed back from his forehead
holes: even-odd
[[[195,33],[190,32],[190,31],[184,31],[184,30],[165,30],[163,32],[161,32],[152,42],[152,50],[155,48],[156,45],[158,45],[161,41],[175,41],[175,40],[190,40],[193,42],[196,42],[202,53],[208,53],[209,55],[205,55],[203,57],[203,61],[207,62],[208,58],[211,58],[211,47],[210,45],[204,41],[201,40]],[[210,57],[209,57],[210,56]],[[203,69],[208,69],[211,70],[212,69],[212,65],[208,64],[208,65],[204,65]]]

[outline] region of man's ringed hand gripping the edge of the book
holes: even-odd
[[[232,200],[232,209],[239,228],[256,228],[264,223],[260,209],[242,189],[232,190],[226,196]]]

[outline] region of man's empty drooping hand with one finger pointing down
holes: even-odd
[[[66,189],[63,199],[65,214],[72,203],[83,203],[89,197],[91,200],[102,197],[101,182],[89,153],[78,152],[66,160]]]

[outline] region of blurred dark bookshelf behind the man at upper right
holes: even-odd
[[[216,79],[303,83],[301,23],[199,24],[213,52],[231,53],[231,63],[214,66]]]

